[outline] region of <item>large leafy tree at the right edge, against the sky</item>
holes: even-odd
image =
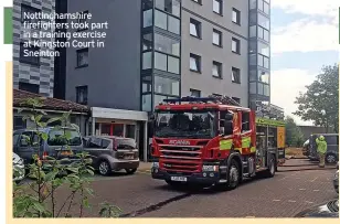
[[[295,104],[298,109],[294,115],[302,120],[312,120],[328,131],[332,128],[338,132],[339,125],[339,65],[323,66],[317,79],[306,86],[307,92],[300,93]]]

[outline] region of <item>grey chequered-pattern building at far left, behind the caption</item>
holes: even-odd
[[[13,0],[13,87],[53,97],[54,88],[54,56],[25,56],[25,50],[30,52],[47,51],[49,47],[24,46],[23,42],[34,40],[24,33],[36,30],[25,29],[24,22],[36,22],[25,19],[24,12],[51,13],[55,10],[55,0]],[[45,38],[45,41],[53,41]],[[53,50],[52,50],[53,51]]]

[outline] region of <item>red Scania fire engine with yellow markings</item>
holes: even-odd
[[[256,174],[274,177],[285,159],[285,122],[227,96],[164,99],[151,117],[151,175],[170,185],[232,190]]]

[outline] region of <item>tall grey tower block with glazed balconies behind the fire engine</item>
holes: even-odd
[[[135,138],[146,158],[148,117],[164,98],[229,95],[243,106],[269,100],[268,0],[66,4],[67,12],[109,24],[105,47],[67,49],[59,75],[65,85],[56,92],[93,108],[93,134]]]

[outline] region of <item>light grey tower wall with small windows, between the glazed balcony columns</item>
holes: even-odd
[[[248,106],[248,1],[223,1],[222,15],[213,11],[213,1],[199,4],[192,0],[182,1],[182,96],[190,95],[190,89],[201,92],[201,96],[211,94],[227,95],[241,99]],[[241,12],[241,25],[232,22],[232,10]],[[201,22],[201,39],[190,34],[190,19]],[[212,44],[213,29],[222,32],[222,47]],[[240,40],[240,54],[232,52],[232,38]],[[190,71],[190,54],[201,56],[201,73]],[[212,62],[222,63],[222,77],[212,75]],[[232,67],[240,68],[241,83],[232,82]]]

